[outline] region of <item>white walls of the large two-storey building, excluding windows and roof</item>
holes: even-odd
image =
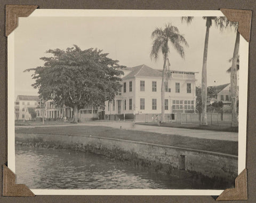
[[[178,75],[178,74],[177,74]],[[171,88],[171,92],[165,92],[165,99],[168,99],[168,110],[165,110],[165,113],[172,113],[172,100],[193,100],[195,103],[196,100],[196,86],[195,86],[195,77],[194,75],[178,75],[179,77],[170,78],[169,80],[169,88]],[[189,77],[190,76],[190,77]],[[140,91],[140,80],[145,81],[145,91]],[[129,82],[132,81],[132,92],[129,91]],[[152,82],[157,82],[157,91],[152,92]],[[121,100],[121,113],[123,111],[123,102],[126,100],[126,110],[125,113],[133,113],[134,112],[134,104],[135,104],[135,112],[136,113],[161,113],[161,85],[162,78],[161,77],[136,77],[132,79],[127,79],[122,82],[126,82],[126,93],[123,92],[122,87],[122,95],[116,96],[115,98],[115,111],[113,111],[113,103],[110,103],[111,114],[117,113],[117,100]],[[175,83],[180,83],[180,93],[175,93]],[[191,93],[187,93],[187,83],[191,83]],[[140,109],[140,99],[145,99],[145,109]],[[132,110],[129,110],[129,99],[132,99]],[[152,110],[152,99],[157,100],[157,109]],[[108,111],[108,102],[105,102],[106,115],[110,114],[110,110]],[[184,103],[183,103],[184,105]],[[184,108],[183,108],[184,109]]]

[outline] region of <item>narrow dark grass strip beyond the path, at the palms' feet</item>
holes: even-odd
[[[158,126],[157,123],[149,122],[136,122],[139,125],[150,125]],[[222,132],[238,132],[238,127],[230,127],[230,125],[198,125],[198,124],[175,124],[175,123],[162,123],[162,127],[177,127],[177,128],[187,128],[187,129],[207,129],[210,131],[222,131]]]

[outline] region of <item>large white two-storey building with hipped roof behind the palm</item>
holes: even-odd
[[[121,91],[106,101],[106,119],[145,119],[161,113],[162,70],[142,64],[122,69]],[[192,71],[170,70],[165,87],[165,113],[193,113],[196,109],[196,78]]]

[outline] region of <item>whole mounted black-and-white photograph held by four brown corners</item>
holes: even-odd
[[[247,109],[237,23],[124,12],[19,18],[8,37],[17,183],[35,194],[234,188]]]

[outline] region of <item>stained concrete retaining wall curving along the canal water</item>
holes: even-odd
[[[155,170],[184,170],[206,182],[232,185],[237,176],[237,156],[202,150],[85,135],[16,133],[17,144],[90,151],[121,160],[138,161]],[[27,144],[29,142],[29,144]],[[223,184],[222,184],[223,185]]]

